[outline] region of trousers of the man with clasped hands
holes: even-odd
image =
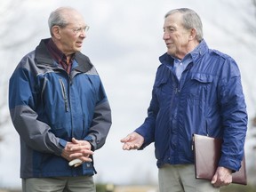
[[[93,178],[54,177],[22,179],[22,192],[96,192]]]

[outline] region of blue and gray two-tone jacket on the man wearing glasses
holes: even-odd
[[[28,53],[10,79],[9,108],[20,134],[20,177],[93,175],[92,163],[68,166],[61,155],[67,141],[88,140],[101,148],[111,125],[108,99],[96,69],[75,53],[70,76],[58,66],[44,39]]]

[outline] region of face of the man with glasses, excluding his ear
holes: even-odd
[[[88,26],[84,22],[83,16],[79,12],[67,11],[68,25],[60,28],[60,50],[67,54],[80,52]]]

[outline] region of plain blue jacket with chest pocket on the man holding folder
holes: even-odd
[[[208,48],[204,40],[191,52],[180,82],[165,53],[156,72],[148,117],[135,132],[145,148],[155,142],[157,166],[193,164],[193,133],[222,138],[219,166],[233,171],[244,156],[247,113],[235,60]]]

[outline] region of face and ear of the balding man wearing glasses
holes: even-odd
[[[62,11],[63,18],[68,25],[65,27],[53,26],[54,36],[52,39],[57,47],[67,57],[82,50],[85,31],[88,26],[85,24],[83,16],[76,10],[66,9]]]

